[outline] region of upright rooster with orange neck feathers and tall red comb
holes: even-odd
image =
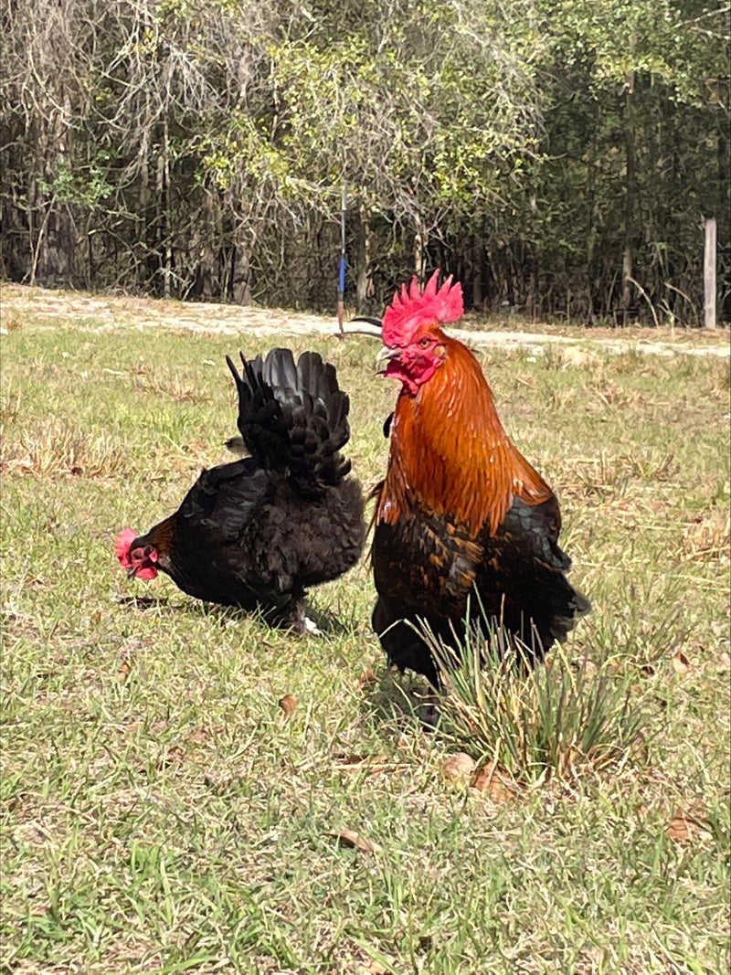
[[[519,638],[529,664],[590,609],[566,579],[554,492],[505,432],[475,356],[442,331],[464,304],[451,276],[438,288],[439,273],[423,291],[415,278],[403,285],[381,323],[385,375],[402,387],[371,551],[373,629],[392,664],[435,687],[414,625],[458,652],[466,617],[486,619]]]

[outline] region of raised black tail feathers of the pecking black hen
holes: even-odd
[[[242,374],[226,356],[239,393],[239,432],[251,455],[287,473],[304,493],[338,484],[351,466],[338,452],[350,438],[350,401],[334,366],[317,352],[303,352],[295,365],[291,351],[279,348],[241,361]]]

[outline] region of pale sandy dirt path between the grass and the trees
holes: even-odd
[[[279,308],[242,307],[226,304],[195,304],[162,301],[127,295],[89,295],[79,292],[46,291],[22,285],[0,286],[0,331],[16,328],[53,328],[73,319],[76,328],[89,331],[154,329],[202,331],[217,334],[305,335],[334,334],[334,318],[289,312]],[[609,329],[555,328],[526,331],[490,326],[489,331],[449,329],[449,333],[471,345],[519,346],[540,351],[547,345],[581,346],[596,351],[673,356],[728,357],[731,353],[727,330],[623,330],[621,336]],[[535,328],[535,326],[533,327]]]

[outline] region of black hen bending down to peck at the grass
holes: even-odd
[[[312,628],[306,588],[342,575],[363,550],[363,494],[339,452],[350,404],[316,352],[296,366],[289,349],[241,361],[243,373],[226,357],[250,457],[202,471],[173,515],[118,536],[117,558],[130,576],[162,570],[189,596],[302,632]]]

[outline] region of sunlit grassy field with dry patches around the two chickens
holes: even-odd
[[[487,797],[387,671],[366,560],[302,638],[115,563],[226,459],[224,355],[276,340],[52,324],[0,345],[1,971],[728,970],[727,360],[481,353],[594,602],[566,652],[632,674],[651,731]],[[397,392],[374,343],[287,344],[337,365],[369,487]]]

